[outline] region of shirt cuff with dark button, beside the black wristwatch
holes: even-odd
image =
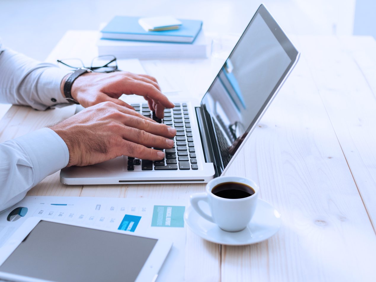
[[[68,103],[60,91],[61,81],[69,72],[58,67],[46,68],[38,79],[38,96],[44,105]]]

